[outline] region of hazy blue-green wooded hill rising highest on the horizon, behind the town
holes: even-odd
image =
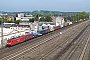
[[[45,15],[63,15],[63,16],[67,16],[67,15],[76,15],[80,12],[60,12],[60,11],[46,11],[46,10],[36,10],[36,11],[32,11],[31,14],[45,14]]]

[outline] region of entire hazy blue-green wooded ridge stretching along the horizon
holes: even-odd
[[[13,16],[16,16],[16,14],[18,13],[25,13],[25,14],[42,14],[42,15],[62,15],[62,16],[68,16],[68,15],[76,15],[80,12],[60,12],[60,11],[47,11],[47,10],[35,10],[35,11],[32,11],[32,12],[29,12],[29,11],[25,11],[25,12],[3,12],[3,11],[0,11],[0,13],[7,13],[8,15],[13,15]],[[88,14],[90,14],[90,12],[88,12]]]

